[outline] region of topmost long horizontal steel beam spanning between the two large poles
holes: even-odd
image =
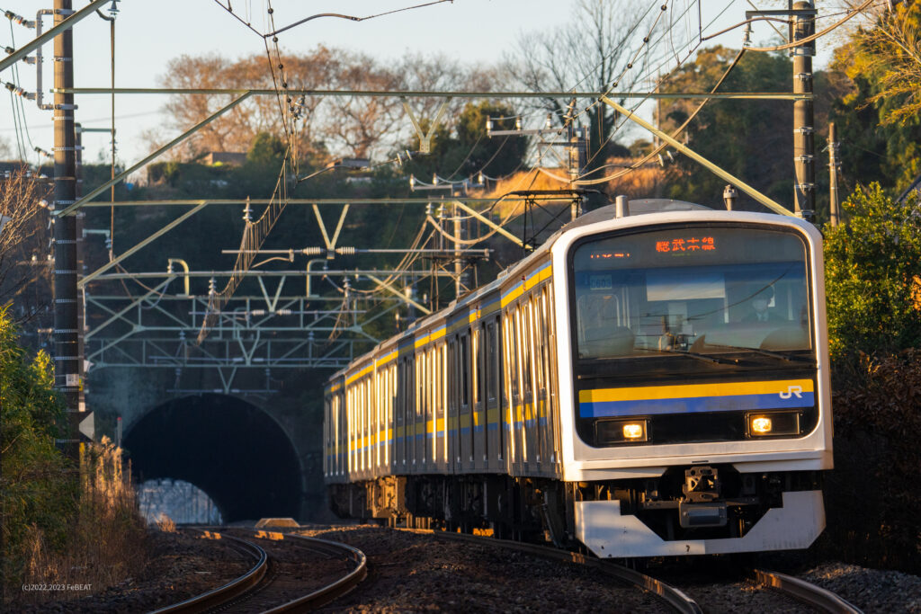
[[[58,87],[52,93],[63,94],[191,94],[211,96],[275,96],[274,89],[225,87]],[[810,93],[793,92],[487,92],[487,91],[434,91],[434,90],[374,90],[374,89],[286,89],[289,96],[345,96],[381,98],[730,98],[741,100],[811,100]]]

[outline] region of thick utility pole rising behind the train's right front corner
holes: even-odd
[[[815,8],[811,1],[800,0],[793,5],[793,42],[815,32]],[[793,92],[812,93],[812,56],[815,42],[793,48]],[[793,162],[796,168],[794,212],[810,218],[815,213],[815,137],[812,100],[793,103]]]

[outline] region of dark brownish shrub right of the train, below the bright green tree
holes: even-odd
[[[857,361],[835,377],[834,471],[825,484],[835,558],[921,572],[921,350]]]

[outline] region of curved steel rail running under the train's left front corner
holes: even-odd
[[[646,575],[645,573],[639,573],[635,570],[628,569],[623,565],[618,565],[609,561],[602,561],[601,559],[590,558],[584,554],[580,554],[579,552],[559,550],[549,546],[538,546],[537,544],[526,544],[519,541],[510,541],[508,539],[481,538],[464,533],[449,533],[448,531],[431,531],[431,533],[439,539],[458,539],[461,541],[470,541],[477,544],[492,544],[501,548],[518,550],[519,552],[527,552],[529,554],[540,556],[546,559],[554,559],[557,561],[574,562],[580,565],[586,565],[588,567],[599,570],[605,575],[623,580],[624,582],[631,585],[639,586],[643,590],[652,593],[656,597],[659,597],[668,603],[670,607],[674,608],[676,611],[686,612],[688,614],[703,614],[704,611],[700,608],[700,606],[697,605],[697,602],[694,601],[694,599],[688,597],[685,593],[683,593],[678,588],[675,588],[674,586],[667,585],[661,580],[657,580],[656,578]]]

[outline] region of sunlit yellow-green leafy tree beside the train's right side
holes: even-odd
[[[844,203],[845,224],[825,228],[825,293],[833,358],[921,345],[921,208],[878,183]]]

